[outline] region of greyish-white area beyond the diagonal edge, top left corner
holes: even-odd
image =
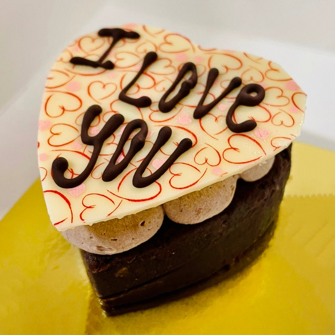
[[[103,1],[0,0],[0,74],[6,82],[0,106],[22,94],[34,73],[76,37]]]

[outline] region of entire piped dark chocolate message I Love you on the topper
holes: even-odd
[[[105,58],[108,56],[112,48],[115,44],[124,38],[137,39],[139,38],[139,34],[134,31],[125,31],[120,28],[104,28],[99,30],[99,36],[102,37],[112,37],[113,42],[109,46],[109,48],[104,52],[104,54],[99,58],[98,61],[91,61],[81,57],[73,57],[70,62],[76,65],[88,65],[94,68],[103,67],[105,69],[112,69],[114,64],[108,60],[104,62]],[[148,96],[141,96],[139,98],[132,98],[127,96],[128,90],[136,83],[138,78],[144,71],[157,59],[157,54],[155,52],[148,52],[141,66],[141,69],[136,74],[136,76],[130,81],[130,83],[124,87],[124,89],[119,94],[119,99],[125,103],[134,105],[138,108],[149,107],[151,105],[151,99]],[[175,96],[173,96],[169,101],[166,101],[169,95],[176,89],[177,85],[183,80],[184,76],[191,72],[191,75],[188,79],[185,79]],[[242,84],[242,80],[239,77],[235,77],[231,79],[227,88],[211,103],[207,105],[203,105],[204,101],[209,93],[210,88],[212,87],[215,79],[218,77],[219,71],[216,68],[211,68],[209,70],[206,87],[204,93],[194,110],[193,117],[194,119],[201,119],[204,117],[209,111],[211,111],[225,96],[227,96],[233,89],[239,87]],[[196,66],[191,63],[185,63],[181,70],[178,73],[177,78],[171,84],[170,88],[163,94],[163,96],[159,100],[158,108],[163,113],[170,112],[184,97],[186,97],[192,88],[197,84],[197,70]],[[244,86],[240,93],[238,94],[235,102],[229,108],[229,111],[226,115],[226,124],[228,128],[235,133],[248,132],[253,130],[256,127],[256,122],[254,120],[247,120],[240,124],[236,124],[232,120],[233,113],[235,112],[238,106],[257,106],[265,96],[265,90],[262,86],[258,84],[249,84]],[[98,159],[100,151],[102,150],[102,146],[105,140],[110,137],[124,122],[124,117],[121,114],[113,115],[104,125],[102,130],[95,136],[89,136],[88,130],[93,122],[94,118],[97,117],[102,112],[102,108],[98,105],[93,105],[87,109],[84,114],[83,123],[81,126],[81,140],[84,144],[92,145],[93,152],[89,159],[87,166],[84,171],[77,177],[68,179],[64,177],[65,171],[68,169],[69,163],[64,157],[56,158],[52,163],[52,178],[55,183],[62,188],[73,188],[81,183],[83,183],[86,178],[92,172],[94,165]],[[139,131],[134,135],[130,142],[130,148],[125,155],[125,157],[120,161],[118,158],[122,154],[125,143],[129,139],[131,133],[139,129]],[[109,182],[114,180],[117,176],[119,176],[131,162],[133,157],[138,153],[145,144],[145,138],[148,134],[148,126],[145,121],[136,119],[127,124],[125,127],[120,141],[117,145],[116,151],[112,155],[111,160],[109,161],[106,169],[103,172],[102,180],[104,182]],[[170,167],[171,165],[187,150],[192,147],[192,141],[189,138],[184,138],[171,154],[171,156],[157,169],[154,173],[149,176],[143,177],[145,170],[147,169],[149,163],[155,156],[155,154],[159,151],[159,149],[170,139],[172,135],[172,130],[170,127],[163,127],[159,130],[156,141],[153,144],[153,147],[146,155],[146,157],[142,160],[141,164],[137,168],[134,177],[133,177],[133,185],[137,188],[146,187],[156,180],[158,180]]]

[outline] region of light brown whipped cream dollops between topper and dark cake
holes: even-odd
[[[229,177],[162,206],[143,210],[122,219],[112,219],[93,225],[83,225],[62,232],[66,240],[76,247],[100,255],[112,255],[130,250],[147,241],[162,225],[164,214],[182,224],[200,223],[222,212],[231,203],[239,178],[247,182],[264,177],[274,157],[240,175]]]

